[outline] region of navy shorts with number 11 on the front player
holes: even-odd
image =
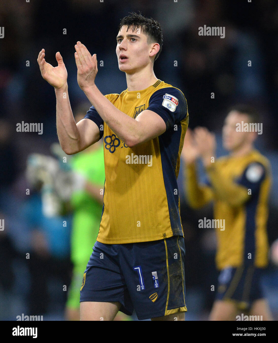
[[[184,238],[128,244],[96,242],[80,290],[81,301],[119,301],[139,320],[187,311]]]

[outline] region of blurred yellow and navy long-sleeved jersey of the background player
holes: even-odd
[[[199,208],[214,201],[214,218],[225,220],[216,229],[219,269],[268,263],[268,196],[271,186],[267,158],[253,150],[244,156],[219,158],[206,168],[209,182],[199,185],[194,164],[185,170],[189,204]]]

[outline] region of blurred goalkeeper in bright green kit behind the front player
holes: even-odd
[[[75,121],[84,118],[88,105],[80,105],[76,110]],[[72,194],[73,208],[71,259],[74,264],[72,282],[66,303],[66,319],[79,320],[80,285],[83,273],[96,241],[103,206],[103,185],[105,179],[103,143],[89,146],[86,150],[72,156],[73,171],[84,177],[80,182],[84,187]],[[86,180],[86,182],[85,182]]]

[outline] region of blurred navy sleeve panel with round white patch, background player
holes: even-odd
[[[251,189],[252,196],[260,190],[262,181],[266,176],[266,168],[259,162],[250,163],[244,170],[242,176],[237,180],[237,184]]]

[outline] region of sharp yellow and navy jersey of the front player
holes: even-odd
[[[154,111],[166,131],[131,148],[90,107],[84,118],[98,125],[104,144],[104,205],[97,240],[122,244],[183,236],[177,177],[188,127],[184,94],[158,80],[141,91],[105,97],[132,118],[145,109]]]

